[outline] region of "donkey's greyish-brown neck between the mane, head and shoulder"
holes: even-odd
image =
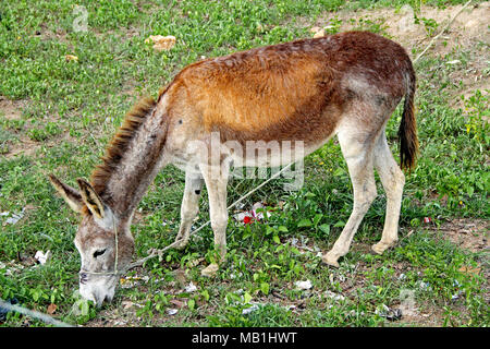
[[[166,116],[159,112],[154,103],[142,117],[143,121],[130,130],[131,134],[128,130],[123,130],[124,125],[120,129],[126,143],[118,163],[112,164],[101,189],[102,200],[110,203],[122,217],[132,217],[164,163],[163,147],[168,125]],[[118,134],[114,139],[117,137]]]

